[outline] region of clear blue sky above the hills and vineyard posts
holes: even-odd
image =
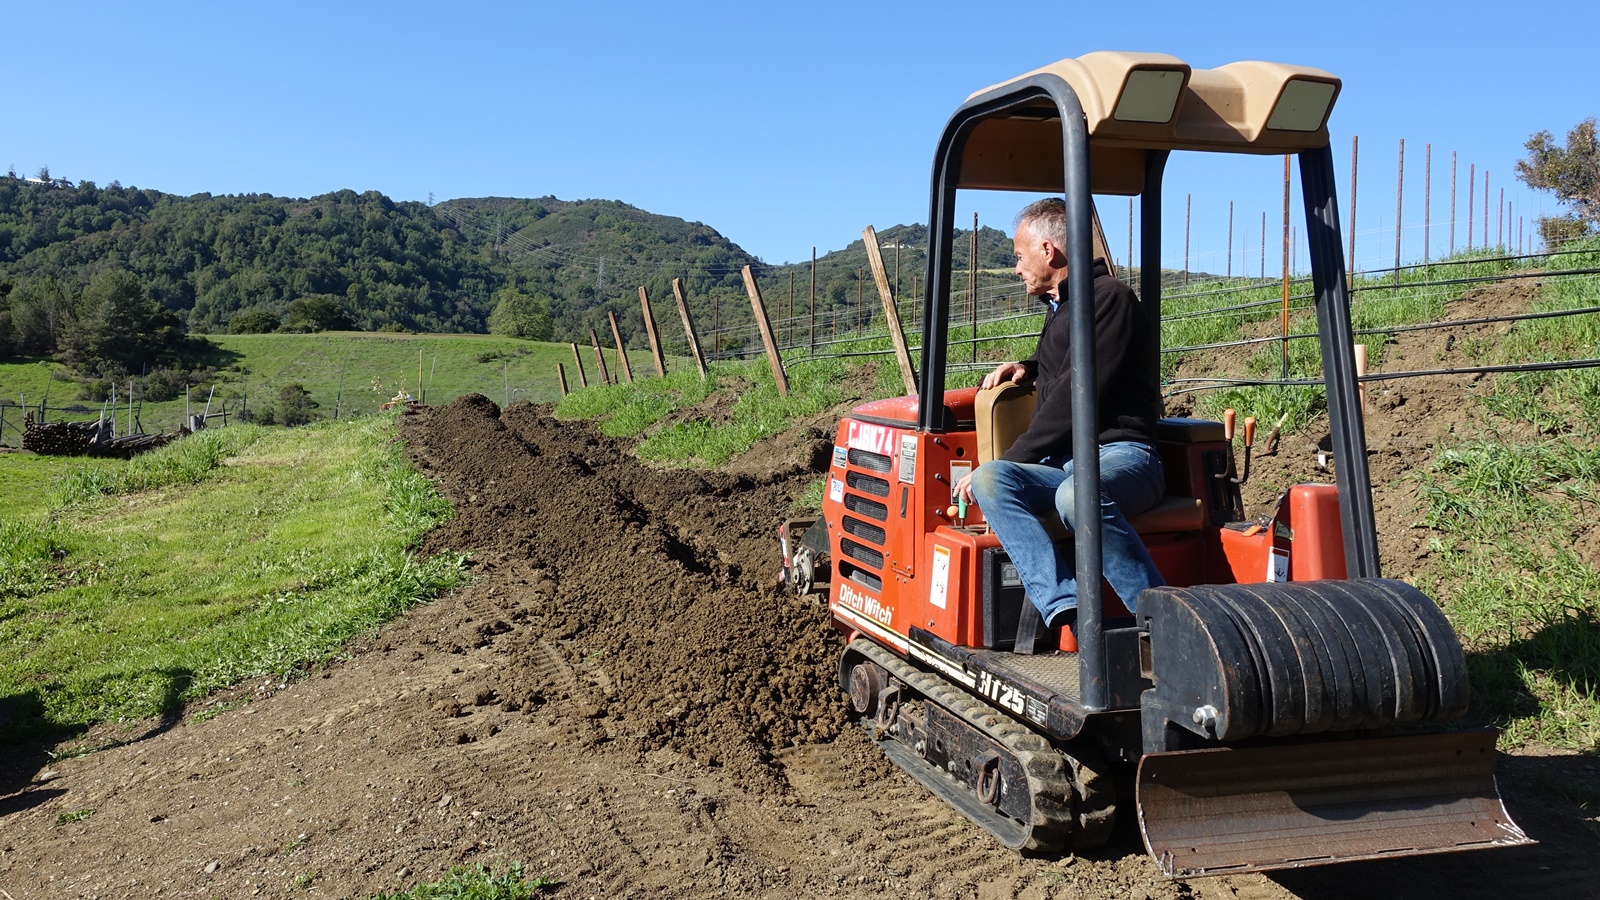
[[[1344,78],[1331,131],[1357,267],[1394,258],[1406,141],[1405,256],[1448,240],[1450,154],[1490,170],[1517,215],[1554,210],[1512,165],[1523,141],[1600,115],[1600,5],[1485,3],[78,3],[13,8],[0,165],[176,194],[402,200],[602,197],[702,221],[768,263],[800,261],[928,215],[933,146],[971,91],[1093,50],[1195,67],[1275,59]],[[1202,18],[1198,11],[1205,11]],[[1259,269],[1282,221],[1282,159],[1174,157],[1165,263]],[[1298,200],[1298,189],[1294,191]],[[1010,231],[1026,197],[978,195]],[[1498,203],[1496,203],[1498,205]],[[1482,208],[1482,207],[1480,207]],[[1114,248],[1126,202],[1102,203]],[[1296,205],[1293,221],[1301,223]],[[1349,227],[1349,223],[1346,223]],[[1491,240],[1496,223],[1491,223]],[[1475,224],[1482,240],[1482,218]],[[1118,250],[1123,255],[1125,250]],[[1245,256],[1248,253],[1248,258]],[[1304,250],[1301,250],[1304,256]],[[1269,253],[1267,271],[1280,261]]]

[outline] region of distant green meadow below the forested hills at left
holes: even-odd
[[[498,404],[507,397],[547,402],[562,396],[555,364],[566,367],[566,378],[578,388],[573,351],[566,344],[546,344],[501,338],[494,335],[392,335],[344,333],[318,335],[213,335],[219,351],[211,360],[222,375],[216,381],[213,412],[226,405],[237,415],[248,396],[254,408],[277,399],[285,384],[302,384],[317,402],[317,415],[339,418],[378,412],[379,404],[405,388],[434,404],[478,392]],[[579,346],[584,372],[590,383],[598,380],[594,351]],[[606,365],[616,368],[616,351],[605,351]],[[635,373],[654,372],[648,351],[629,351]],[[672,360],[669,360],[669,365]],[[418,368],[421,365],[421,381]],[[53,362],[0,362],[0,404],[37,405],[50,391],[50,407],[78,407],[74,413],[50,413],[50,420],[88,420],[101,404],[75,400],[77,386],[51,380],[61,367]],[[200,413],[211,384],[190,388],[190,408]],[[421,389],[419,389],[421,388]],[[118,388],[118,399],[125,391]],[[126,405],[117,413],[118,432],[128,416]],[[174,431],[184,420],[184,400],[144,404],[136,408],[138,424],[147,432]],[[5,444],[18,445],[16,431],[22,413],[5,408]]]

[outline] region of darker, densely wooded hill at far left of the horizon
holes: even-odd
[[[18,288],[54,279],[75,291],[107,259],[211,333],[245,309],[283,317],[307,296],[334,298],[366,330],[482,331],[478,298],[504,277],[426,205],[376,191],[176,197],[0,178],[0,275]]]

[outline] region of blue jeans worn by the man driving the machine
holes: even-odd
[[[1077,532],[1074,487],[1070,456],[1042,463],[994,460],[973,471],[973,498],[1046,623],[1062,610],[1078,607],[1072,541],[1056,543],[1040,520],[1042,516],[1054,516],[1067,532]],[[1101,557],[1106,581],[1130,612],[1134,612],[1139,591],[1166,581],[1126,516],[1155,506],[1165,490],[1162,458],[1149,445],[1101,445]]]

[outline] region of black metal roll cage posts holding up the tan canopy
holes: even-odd
[[[1078,298],[1093,298],[1090,133],[1083,107],[1066,78],[1040,72],[973,96],[944,127],[933,160],[933,191],[928,211],[928,279],[923,291],[922,378],[917,428],[946,431],[944,368],[949,341],[949,298],[952,288],[952,245],[955,239],[955,194],[962,154],[973,130],[987,119],[1034,115],[1038,99],[1050,99],[1061,117],[1062,167],[1067,203],[1067,309],[1072,315],[1072,464],[1077,492],[1078,538],[1078,665],[1082,703],[1086,711],[1109,706],[1106,677],[1106,637],[1102,623],[1101,528],[1098,514],[1099,452],[1096,445],[1098,404],[1094,384],[1094,309]],[[1150,147],[1141,192],[1141,259],[1160,259],[1162,176],[1170,149]],[[1328,144],[1304,149],[1299,157],[1301,192],[1306,207],[1306,235],[1310,251],[1312,285],[1317,301],[1317,330],[1322,340],[1323,380],[1328,391],[1328,418],[1333,455],[1338,461],[1339,522],[1344,535],[1346,570],[1350,578],[1378,578],[1378,527],[1373,517],[1371,479],[1366,468],[1366,436],[1355,381],[1350,298],[1339,240],[1339,211],[1334,197],[1333,151]],[[1160,320],[1160,264],[1144,266],[1139,293]]]

